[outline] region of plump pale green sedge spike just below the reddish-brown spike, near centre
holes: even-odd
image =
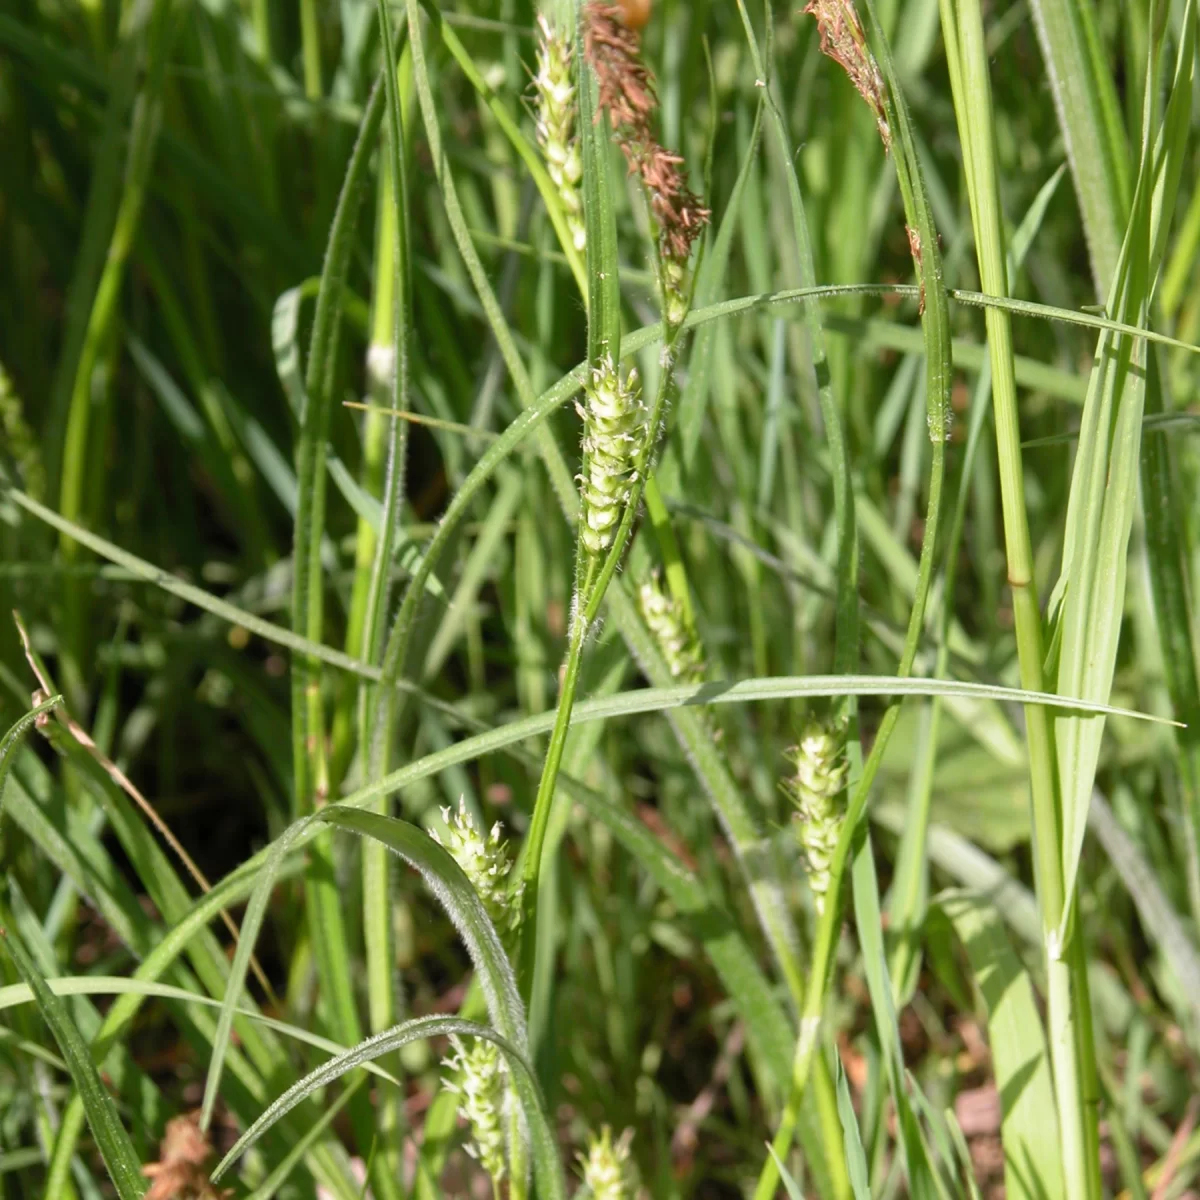
[[[613,542],[636,474],[634,460],[644,433],[646,410],[637,371],[622,380],[611,359],[592,372],[584,386],[583,474],[580,476],[580,536],[589,554]]]

